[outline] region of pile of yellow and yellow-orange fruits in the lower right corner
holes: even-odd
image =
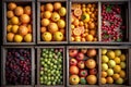
[[[102,84],[123,84],[126,80],[126,54],[121,50],[102,50]]]

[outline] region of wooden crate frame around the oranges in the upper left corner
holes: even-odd
[[[7,40],[7,25],[8,25],[8,18],[7,18],[7,7],[8,7],[8,3],[9,2],[15,2],[16,4],[21,4],[21,5],[25,5],[25,4],[28,4],[28,5],[32,5],[32,29],[33,29],[33,33],[32,33],[32,42],[9,42]],[[36,41],[36,25],[35,25],[35,0],[2,0],[2,8],[4,9],[3,10],[3,13],[2,13],[2,20],[3,20],[3,23],[2,23],[2,33],[3,33],[3,45],[35,45],[35,41]]]

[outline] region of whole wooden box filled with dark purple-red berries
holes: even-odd
[[[2,87],[33,87],[35,85],[35,50],[32,46],[1,48]]]

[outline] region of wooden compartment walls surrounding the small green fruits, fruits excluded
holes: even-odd
[[[66,87],[66,49],[64,49],[64,47],[63,46],[39,46],[39,47],[36,47],[36,49],[37,49],[37,84],[36,84],[36,86],[35,87]],[[45,84],[45,83],[40,83],[40,58],[43,58],[41,57],[41,52],[44,51],[44,50],[47,50],[48,49],[48,51],[49,50],[51,50],[51,49],[53,49],[53,53],[55,53],[55,50],[57,49],[57,50],[59,50],[59,49],[61,49],[62,50],[62,70],[61,70],[61,72],[62,72],[62,78],[61,78],[61,80],[62,80],[62,84],[58,84],[58,82],[57,82],[57,84],[56,85],[52,85],[52,82],[51,82],[51,85],[47,85],[47,84]],[[59,52],[59,51],[58,51]],[[44,52],[45,53],[45,52]],[[53,57],[55,58],[55,57]],[[52,58],[52,59],[53,59]],[[46,58],[43,58],[43,60],[45,60]],[[44,64],[46,64],[46,63],[44,63]],[[48,64],[47,64],[48,65]],[[60,64],[59,64],[60,65]],[[51,67],[51,66],[50,66]],[[43,69],[45,69],[44,66],[43,66]],[[56,69],[55,69],[56,70]],[[53,71],[53,70],[52,70]],[[47,73],[46,71],[44,71],[44,73]],[[58,75],[58,74],[56,74],[56,75]],[[43,76],[46,76],[46,75],[44,75],[43,74]],[[52,77],[52,74],[51,74],[51,77]],[[46,80],[45,80],[46,82]]]

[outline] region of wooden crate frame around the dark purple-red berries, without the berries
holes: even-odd
[[[29,49],[31,50],[31,57],[32,57],[32,77],[31,77],[31,85],[7,85],[5,82],[5,58],[8,49]],[[1,48],[1,87],[33,87],[35,85],[35,50],[32,46],[3,46]]]

